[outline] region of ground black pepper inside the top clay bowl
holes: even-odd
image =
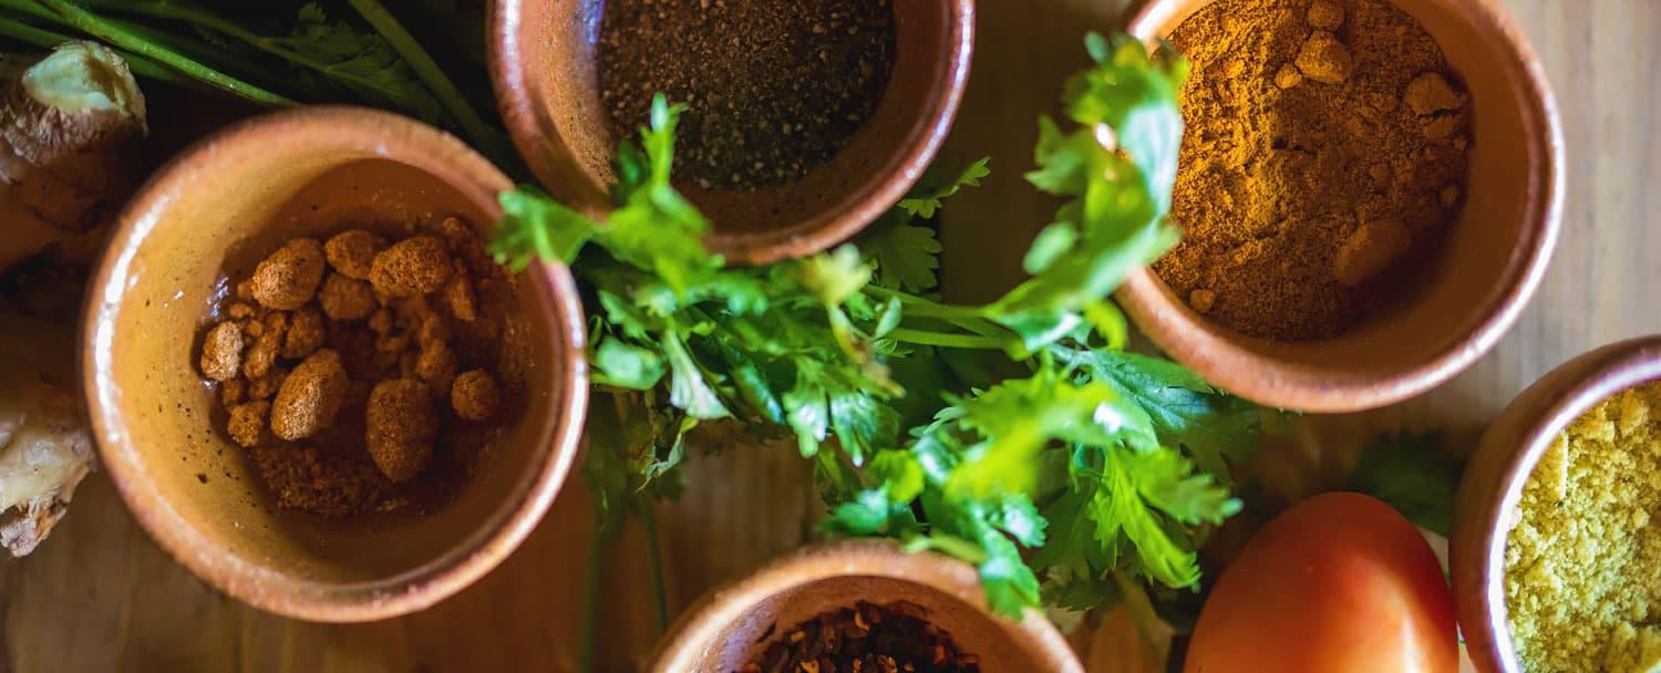
[[[801,179],[877,110],[894,66],[889,0],[611,0],[600,95],[631,138],[651,98],[686,103],[676,178],[704,189]]]

